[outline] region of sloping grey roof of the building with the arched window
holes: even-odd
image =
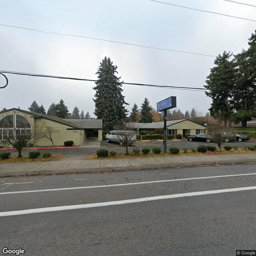
[[[102,129],[102,120],[101,119],[63,119],[63,118],[58,118],[56,116],[48,116],[44,114],[39,114],[36,112],[32,111],[27,111],[23,109],[18,109],[18,108],[11,108],[8,110],[1,111],[0,114],[4,112],[9,112],[9,111],[19,111],[25,114],[30,115],[32,118],[44,118],[46,120],[50,120],[52,122],[56,122],[59,124],[64,124],[66,126],[69,126],[70,128],[75,128],[75,129]]]

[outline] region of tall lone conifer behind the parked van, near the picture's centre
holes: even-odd
[[[98,119],[102,119],[103,130],[112,130],[115,126],[121,125],[128,112],[124,107],[128,103],[124,101],[122,82],[119,82],[120,77],[116,76],[118,74],[116,69],[117,66],[113,65],[110,58],[105,57],[96,72],[98,81],[95,82],[96,86],[93,88],[96,90],[95,99],[93,99],[94,114]]]

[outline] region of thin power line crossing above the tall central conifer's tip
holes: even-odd
[[[112,42],[112,43],[117,43],[117,44],[126,44],[126,45],[132,45],[132,46],[138,46],[138,47],[144,47],[144,48],[151,48],[151,49],[156,49],[156,50],[195,54],[195,55],[208,56],[208,57],[217,57],[215,55],[202,54],[202,53],[197,53],[197,52],[186,52],[186,51],[179,51],[179,50],[173,50],[173,49],[167,49],[167,48],[146,46],[146,45],[142,45],[142,44],[132,44],[132,43],[127,43],[127,42],[120,42],[120,41],[114,41],[114,40],[108,40],[108,39],[102,39],[102,38],[94,38],[94,37],[90,37],[90,36],[78,36],[78,35],[73,35],[73,34],[54,33],[54,32],[48,32],[48,31],[43,31],[43,30],[37,30],[37,29],[33,29],[33,28],[11,26],[11,25],[7,25],[7,24],[0,24],[0,26],[6,26],[6,27],[10,27],[10,28],[20,28],[20,29],[31,30],[31,31],[36,31],[36,32],[40,32],[40,33],[54,34],[54,35],[58,35],[58,36],[72,36],[72,37],[87,38],[87,39],[98,40],[98,41]]]

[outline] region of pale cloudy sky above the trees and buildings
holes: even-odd
[[[256,20],[256,8],[226,0],[163,0],[162,2]],[[237,0],[254,4],[255,0]],[[214,58],[170,50],[217,56],[248,48],[256,22],[199,12],[152,0],[2,0],[0,16],[0,70],[97,79],[107,56],[128,83],[202,88]],[[53,32],[56,35],[18,26]],[[157,50],[90,38],[139,44]],[[75,106],[94,116],[94,82],[8,74],[0,89],[0,110],[32,101],[46,108],[62,98],[70,112]],[[0,76],[0,86],[5,84]],[[204,92],[123,85],[130,111],[145,97],[152,107],[177,97],[177,109],[193,107],[208,112],[211,99]]]

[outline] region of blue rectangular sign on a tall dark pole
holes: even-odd
[[[157,111],[164,111],[164,153],[166,153],[166,115],[167,110],[170,108],[176,108],[176,96],[171,96],[165,100],[157,102]]]

